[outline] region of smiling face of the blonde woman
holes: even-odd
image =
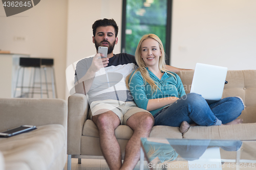
[[[148,38],[141,43],[141,58],[145,62],[146,67],[158,67],[159,58],[162,52],[159,43],[153,39]]]

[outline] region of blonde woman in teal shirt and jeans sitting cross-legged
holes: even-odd
[[[144,35],[135,52],[139,68],[126,80],[135,103],[152,113],[155,126],[180,127],[180,132],[184,133],[189,124],[212,126],[242,123],[242,119],[237,119],[244,109],[241,98],[225,98],[208,105],[199,94],[185,94],[179,76],[164,69],[164,57],[159,37]]]

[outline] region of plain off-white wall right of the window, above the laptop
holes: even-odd
[[[256,69],[255,0],[174,0],[171,64]]]

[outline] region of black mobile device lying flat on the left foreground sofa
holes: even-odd
[[[28,132],[28,131],[31,131],[31,130],[34,130],[34,129],[36,129],[35,126],[23,125],[23,126],[20,126],[20,127],[17,127],[17,128],[7,130],[5,132],[1,132],[0,137],[10,137],[10,136],[14,136],[14,135],[17,135],[17,134],[20,134],[20,133]]]

